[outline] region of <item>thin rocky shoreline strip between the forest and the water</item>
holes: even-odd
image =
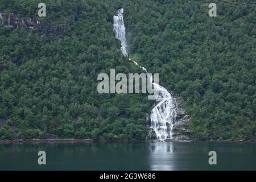
[[[156,140],[105,140],[105,139],[15,139],[0,140],[0,144],[38,144],[38,143],[134,143],[134,142],[157,142]],[[256,143],[256,139],[251,140],[168,140],[166,142],[239,142],[239,143]]]

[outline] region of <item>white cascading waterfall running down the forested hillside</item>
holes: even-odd
[[[126,51],[126,32],[125,32],[125,24],[123,22],[123,9],[118,10],[118,15],[114,16],[114,32],[115,38],[121,41],[121,50],[124,56],[128,57]],[[130,59],[129,59],[130,60]],[[139,64],[133,61],[135,65]],[[139,66],[145,72],[147,69]],[[158,91],[159,96],[156,98],[157,104],[151,111],[150,114],[150,133],[148,136],[150,137],[153,132],[156,134],[156,139],[158,140],[166,140],[172,139],[172,127],[175,123],[176,118],[176,103],[175,98],[171,96],[171,93],[167,91],[163,86],[152,82],[152,77],[150,77],[150,82],[154,86],[154,89]]]

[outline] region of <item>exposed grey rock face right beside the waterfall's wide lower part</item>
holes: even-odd
[[[189,130],[191,118],[185,112],[183,99],[180,96],[174,97],[177,104],[177,118],[172,129],[172,137],[174,137],[174,140],[191,140],[189,137],[191,135],[191,131]]]

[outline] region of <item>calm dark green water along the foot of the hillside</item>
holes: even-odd
[[[39,166],[38,151],[46,151]],[[210,166],[208,152],[217,152]],[[256,170],[255,143],[0,144],[0,170]]]

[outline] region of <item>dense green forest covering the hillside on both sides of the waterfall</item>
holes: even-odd
[[[33,0],[0,0],[0,12],[36,17]],[[253,1],[50,1],[49,39],[0,25],[0,139],[145,139],[145,94],[98,94],[97,75],[141,72],[122,56],[113,15],[125,9],[129,53],[185,100],[201,139],[256,138],[256,5]]]

